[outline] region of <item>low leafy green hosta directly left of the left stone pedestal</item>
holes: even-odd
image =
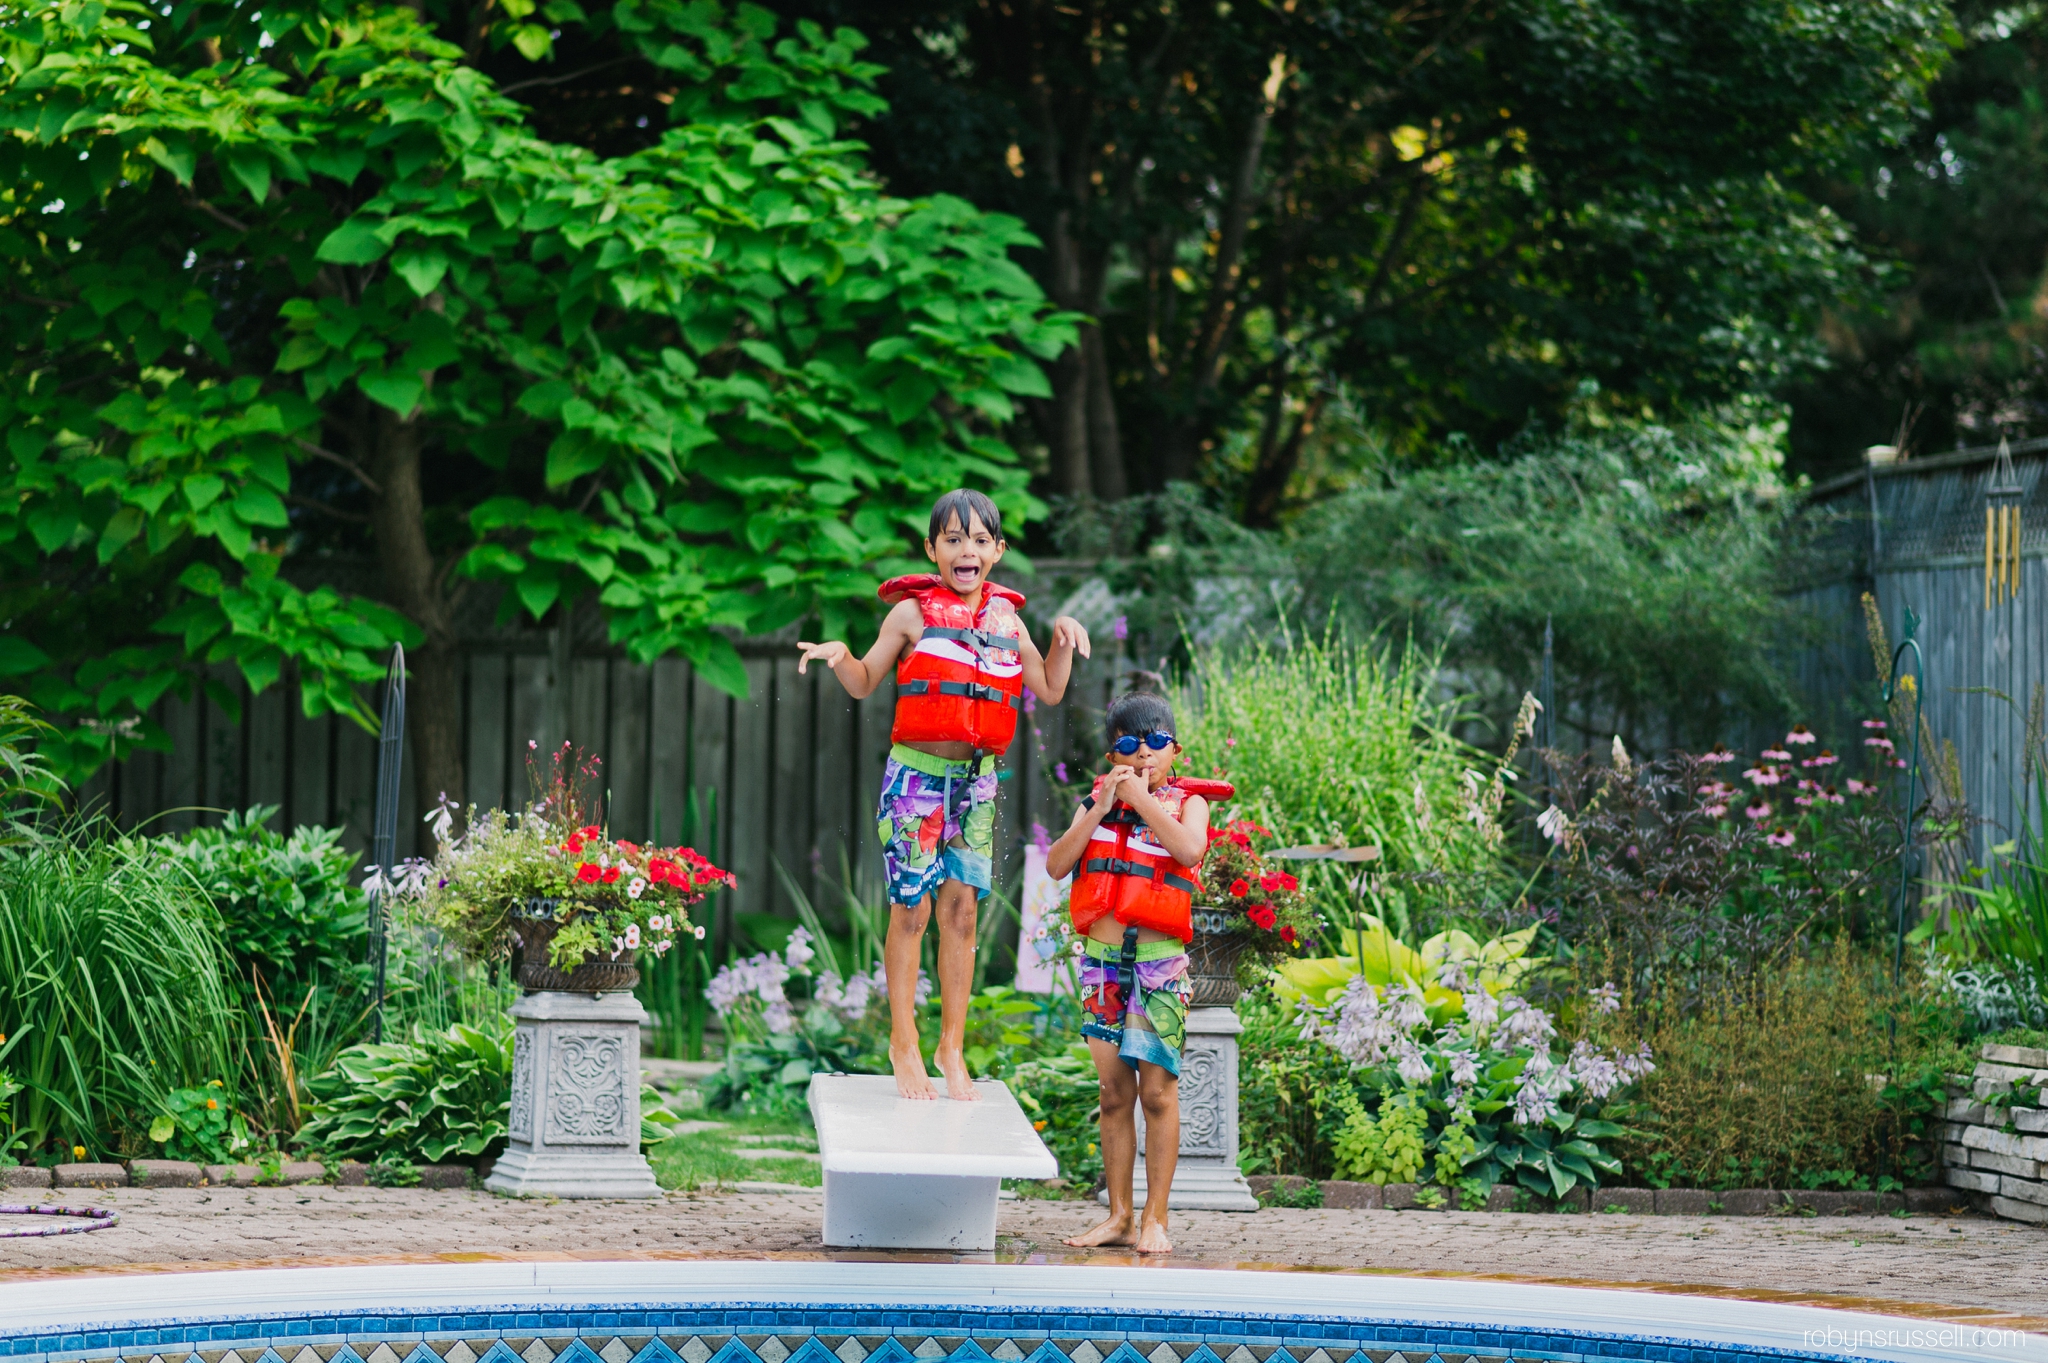
[[[414,1027],[410,1042],[350,1046],[307,1089],[295,1144],[336,1158],[440,1164],[477,1158],[506,1138],[512,1029]]]

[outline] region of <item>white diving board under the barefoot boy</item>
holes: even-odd
[[[889,1074],[815,1074],[811,1117],[825,1169],[825,1244],[995,1248],[1004,1179],[1051,1179],[1059,1160],[1010,1089],[975,1081],[977,1103],[899,1097]]]

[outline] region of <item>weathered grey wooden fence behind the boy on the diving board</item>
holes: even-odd
[[[530,790],[528,757],[545,759],[567,739],[602,759],[616,835],[680,837],[692,796],[711,815],[692,835],[739,874],[739,888],[721,896],[721,933],[735,913],[795,913],[776,862],[821,907],[838,903],[842,876],[868,903],[879,900],[874,796],[889,753],[893,684],[854,702],[823,669],[797,675],[793,641],[745,641],[741,657],[750,690],[735,700],[680,659],[629,663],[604,643],[596,610],[578,614],[567,636],[479,626],[463,679],[469,800],[516,808]],[[1071,810],[1057,808],[1051,774],[1059,761],[1102,751],[1094,735],[1116,669],[1114,657],[1098,653],[1098,661],[1079,663],[1061,706],[1034,706],[1024,716],[1004,763],[999,874],[1018,874],[1034,821],[1065,827]],[[260,696],[248,696],[231,671],[217,679],[240,698],[240,716],[205,698],[166,698],[154,714],[170,751],[104,770],[84,786],[84,800],[109,808],[123,827],[162,831],[274,804],[272,827],[340,825],[348,845],[365,849],[375,737],[350,720],[299,714],[289,677]],[[424,843],[410,759],[408,751],[401,858]]]

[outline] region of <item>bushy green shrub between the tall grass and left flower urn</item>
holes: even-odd
[[[315,980],[362,974],[365,896],[348,882],[356,853],[342,847],[340,829],[297,827],[291,835],[264,825],[274,804],[229,810],[217,829],[150,841],[221,915],[223,935],[248,982],[262,970],[270,999],[297,1009]]]

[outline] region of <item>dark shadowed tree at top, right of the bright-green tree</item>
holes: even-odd
[[[879,164],[1024,215],[1100,317],[1034,405],[1063,491],[1270,520],[1329,403],[1485,446],[1593,381],[1714,401],[1864,278],[1792,186],[1890,135],[1939,0],[776,0],[877,39]]]

